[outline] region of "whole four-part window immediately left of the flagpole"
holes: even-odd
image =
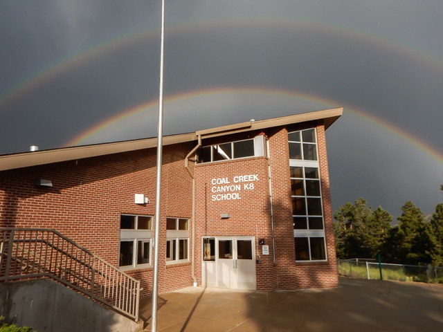
[[[144,268],[151,264],[152,216],[120,216],[120,257],[123,269]]]

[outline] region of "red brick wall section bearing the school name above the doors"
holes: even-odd
[[[251,183],[234,183],[235,176],[256,174],[259,181],[251,182],[254,189],[245,190],[244,185]],[[229,237],[252,236],[255,237],[255,256],[261,256],[261,264],[257,264],[256,277],[257,289],[272,291],[276,288],[273,278],[272,247],[269,255],[262,255],[262,248],[258,239],[265,239],[267,245],[271,244],[271,218],[269,204],[269,176],[268,162],[265,157],[254,157],[220,161],[217,163],[199,164],[195,167],[197,183],[197,247],[196,247],[196,273],[201,282],[201,237]],[[230,193],[239,194],[241,199],[229,201],[213,201],[213,188],[222,185],[213,185],[214,178],[227,178],[229,185],[238,184],[239,191]],[[221,219],[220,215],[228,213],[229,219]],[[199,244],[200,243],[200,244]]]

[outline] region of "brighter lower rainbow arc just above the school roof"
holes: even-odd
[[[188,91],[186,93],[177,93],[176,95],[171,95],[164,100],[165,110],[168,110],[168,107],[175,105],[175,108],[186,107],[192,100],[201,100],[201,98],[229,98],[229,95],[243,95],[244,98],[248,99],[254,96],[273,96],[275,98],[292,98],[292,105],[294,102],[299,102],[300,100],[309,100],[313,104],[316,105],[324,105],[325,107],[336,107],[337,105],[344,106],[345,112],[353,113],[354,115],[362,118],[365,121],[368,121],[374,124],[381,129],[384,129],[390,133],[403,138],[404,140],[410,142],[411,145],[415,146],[420,151],[424,151],[429,156],[433,157],[440,163],[443,163],[443,153],[431,146],[429,146],[423,140],[411,135],[410,133],[396,127],[394,124],[387,122],[377,116],[373,116],[367,111],[363,111],[359,109],[359,107],[355,107],[350,104],[341,104],[341,102],[337,100],[332,100],[329,98],[323,98],[318,95],[313,95],[305,92],[296,92],[289,91],[283,89],[265,89],[262,87],[222,87],[218,89],[204,89],[198,91]],[[119,127],[119,124],[122,122],[127,122],[127,126],[134,125],[136,122],[140,120],[141,116],[149,117],[148,120],[152,120],[155,122],[157,116],[158,101],[151,100],[149,102],[144,102],[142,104],[138,104],[129,109],[125,109],[121,111],[116,116],[108,118],[93,127],[87,129],[86,131],[80,133],[80,135],[76,136],[69,142],[66,142],[66,146],[75,146],[82,145],[87,142],[90,138],[94,138],[94,140],[98,140],[100,133],[105,130],[112,130],[113,128]],[[293,106],[292,106],[293,109]],[[177,109],[175,110],[177,111]],[[305,111],[305,109],[303,110]],[[147,122],[146,122],[147,123]],[[154,135],[153,135],[154,136]]]

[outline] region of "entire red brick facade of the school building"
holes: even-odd
[[[203,277],[202,237],[249,236],[255,239],[255,258],[260,258],[255,265],[258,290],[336,286],[325,127],[323,122],[305,122],[289,129],[309,127],[316,127],[317,131],[327,261],[296,263],[287,127],[204,140],[203,144],[208,145],[217,140],[230,142],[261,134],[269,141],[269,156],[197,165],[190,163],[196,190],[195,243],[192,243],[192,177],[184,160],[197,141],[177,143],[163,148],[160,293],[191,286],[193,282],[192,249],[188,263],[165,264],[167,217],[190,219],[190,248],[195,248],[198,284]],[[237,178],[235,182],[235,176],[243,178]],[[51,180],[53,187],[36,187],[34,181],[37,178]],[[0,227],[54,228],[118,266],[120,214],[154,216],[155,178],[155,148],[2,171]],[[217,180],[214,179],[229,183],[215,183],[213,181]],[[237,194],[236,199],[213,200],[213,195],[226,194],[217,192],[217,188],[224,185],[233,186],[228,188],[228,193]],[[150,203],[135,204],[134,194],[144,194]],[[230,217],[221,219],[221,214]],[[264,239],[269,246],[269,255],[262,255],[258,239]],[[141,280],[142,295],[149,295],[152,268],[128,273]]]

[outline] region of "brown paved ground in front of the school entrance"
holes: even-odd
[[[190,287],[159,304],[161,332],[443,332],[443,285],[434,284],[341,278],[338,288],[294,292]]]

